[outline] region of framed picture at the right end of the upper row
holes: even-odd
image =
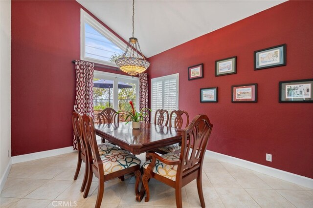
[[[254,70],[286,65],[286,44],[254,51]]]

